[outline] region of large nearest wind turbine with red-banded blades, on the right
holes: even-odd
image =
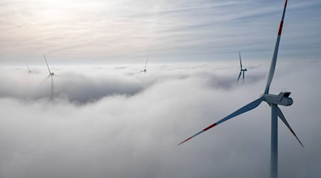
[[[284,20],[284,16],[285,16],[285,9],[287,7],[287,0],[285,0],[285,6],[283,9],[283,14],[282,14],[282,20],[280,23],[280,28],[279,31],[277,33],[277,41],[275,43],[275,50],[272,56],[272,61],[271,61],[271,65],[270,65],[270,71],[269,71],[269,75],[267,78],[267,83],[265,86],[265,90],[264,93],[262,95],[260,95],[260,98],[258,98],[257,100],[254,100],[253,102],[249,103],[248,105],[243,106],[243,108],[240,108],[239,110],[236,110],[235,112],[233,112],[232,114],[224,117],[222,120],[219,120],[218,122],[215,122],[213,125],[210,125],[208,127],[206,127],[205,129],[201,130],[200,132],[197,132],[195,135],[189,137],[188,139],[184,140],[183,142],[186,142],[190,139],[192,139],[193,137],[196,137],[197,135],[200,135],[201,133],[210,130],[210,128],[215,127],[216,125],[219,125],[222,122],[225,122],[237,115],[240,115],[244,112],[248,112],[249,110],[253,110],[254,108],[258,107],[258,105],[260,105],[260,103],[262,103],[263,101],[265,101],[268,105],[270,105],[271,107],[271,147],[270,147],[270,177],[271,178],[276,178],[277,177],[277,116],[280,117],[280,119],[285,123],[285,125],[287,126],[287,128],[292,132],[292,134],[295,136],[295,138],[297,139],[297,141],[300,142],[300,145],[302,145],[302,142],[299,140],[299,138],[297,137],[297,135],[295,135],[295,132],[292,130],[292,128],[290,127],[289,123],[287,122],[287,120],[285,119],[285,116],[283,115],[282,111],[280,110],[280,108],[277,105],[284,105],[284,106],[289,106],[292,105],[293,100],[292,98],[289,98],[290,92],[281,92],[279,95],[272,95],[269,94],[269,89],[270,89],[270,84],[272,82],[272,78],[274,75],[274,71],[275,71],[275,65],[277,62],[277,51],[279,49],[279,44],[280,44],[280,38],[281,38],[281,32],[282,32],[282,26],[283,26],[283,20]],[[180,142],[181,145],[183,142]],[[302,145],[303,147],[303,145]]]

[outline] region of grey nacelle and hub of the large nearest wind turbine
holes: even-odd
[[[288,106],[293,104],[292,98],[289,97],[290,94],[290,92],[281,92],[279,95],[264,94],[262,96],[269,104]]]

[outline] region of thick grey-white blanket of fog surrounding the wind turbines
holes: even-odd
[[[230,63],[135,75],[141,66],[57,66],[54,101],[50,80],[36,88],[45,68],[1,68],[0,177],[267,177],[265,103],[177,146],[258,98],[267,65],[246,66],[244,85]],[[319,76],[320,63],[278,63],[270,91],[292,91],[294,104],[281,109],[305,145],[279,122],[280,177],[320,175]]]

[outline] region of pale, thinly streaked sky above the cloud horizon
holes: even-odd
[[[1,64],[270,61],[284,1],[1,1]],[[280,58],[320,60],[321,1],[289,1]]]

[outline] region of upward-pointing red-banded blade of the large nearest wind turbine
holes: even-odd
[[[277,62],[277,52],[279,51],[279,44],[280,44],[280,38],[281,38],[282,26],[283,26],[283,21],[284,21],[286,8],[287,8],[287,0],[285,0],[285,5],[284,5],[284,9],[283,9],[280,28],[279,28],[279,31],[277,33],[277,41],[275,43],[275,49],[274,49],[274,53],[273,53],[273,56],[272,56],[272,61],[271,61],[271,65],[270,65],[270,71],[269,71],[269,75],[267,77],[267,82],[266,82],[266,85],[265,85],[264,94],[269,93],[270,85],[271,85],[272,78],[273,78],[273,75],[274,75],[275,66],[276,66],[276,62]]]

